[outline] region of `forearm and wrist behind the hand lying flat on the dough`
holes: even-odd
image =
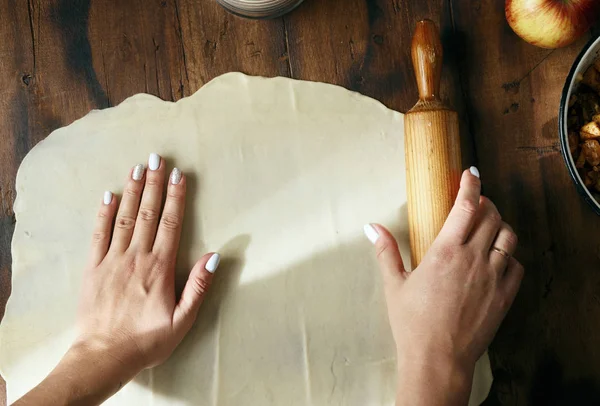
[[[38,386],[13,406],[98,405],[131,380],[138,369],[100,347],[78,344]]]

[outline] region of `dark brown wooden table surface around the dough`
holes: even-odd
[[[557,134],[564,79],[590,35],[535,48],[510,30],[501,0],[306,0],[270,21],[214,0],[0,0],[0,302],[15,174],[52,130],[139,92],[178,100],[228,71],[339,84],[406,111],[422,18],[441,27],[464,165],[480,168],[526,267],[490,350],[486,404],[600,403],[600,218],[577,195]]]

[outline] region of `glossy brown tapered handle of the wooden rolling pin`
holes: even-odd
[[[421,101],[439,100],[443,53],[440,32],[435,23],[419,21],[411,54]]]

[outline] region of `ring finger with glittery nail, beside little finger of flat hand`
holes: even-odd
[[[143,178],[144,165],[139,164],[134,166],[129,173],[129,180],[123,191],[123,198],[117,212],[115,231],[110,245],[111,250],[122,252],[129,247],[140,205],[140,196],[144,189]]]

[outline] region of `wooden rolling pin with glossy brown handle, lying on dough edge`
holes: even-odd
[[[412,61],[419,101],[404,116],[408,224],[412,269],[442,229],[461,176],[458,114],[440,99],[443,50],[430,20],[417,23]]]

